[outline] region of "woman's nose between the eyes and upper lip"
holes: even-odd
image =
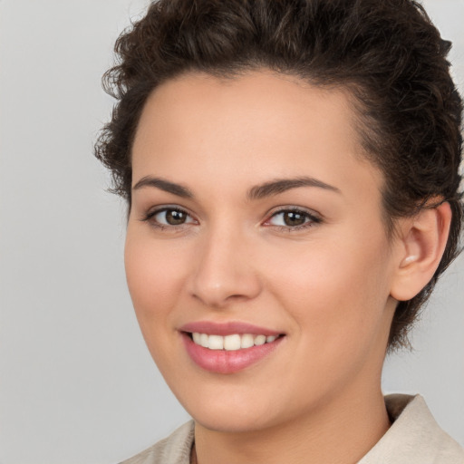
[[[262,288],[255,255],[253,244],[237,231],[211,231],[198,244],[191,295],[214,308],[256,298]]]

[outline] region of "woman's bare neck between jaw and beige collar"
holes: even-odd
[[[380,388],[330,401],[319,411],[266,430],[224,432],[195,426],[198,464],[353,464],[390,427]],[[192,460],[195,462],[195,460]]]

